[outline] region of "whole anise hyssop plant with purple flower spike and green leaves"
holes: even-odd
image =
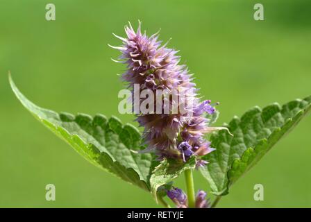
[[[165,207],[169,207],[165,196],[180,208],[215,207],[234,182],[310,111],[311,96],[283,106],[255,107],[241,118],[215,127],[219,103],[201,101],[192,74],[180,64],[178,51],[162,44],[158,33],[150,37],[142,33],[140,25],[134,31],[129,24],[125,32],[126,37],[115,35],[121,46],[111,47],[121,51],[114,61],[126,65],[121,78],[142,133],[117,117],[74,116],[40,108],[19,92],[11,76],[10,85],[36,119],[86,160],[145,189]],[[205,191],[195,192],[194,170],[210,185],[216,196],[213,203]],[[185,173],[186,192],[173,184],[181,173]]]

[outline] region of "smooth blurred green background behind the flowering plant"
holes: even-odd
[[[45,6],[56,5],[47,22]],[[0,207],[157,207],[151,195],[93,167],[17,101],[8,70],[38,105],[76,114],[115,114],[124,88],[120,42],[131,21],[169,47],[195,74],[205,99],[220,101],[218,125],[254,105],[311,94],[311,1],[16,1],[0,3]],[[311,116],[239,180],[219,207],[311,207]],[[196,189],[208,184],[196,172]],[[45,185],[56,185],[56,201]],[[264,185],[264,201],[253,186]],[[176,180],[183,187],[183,177]]]

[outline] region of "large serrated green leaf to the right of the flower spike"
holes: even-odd
[[[206,155],[210,162],[201,169],[208,180],[212,193],[221,196],[246,171],[289,132],[311,109],[311,96],[297,99],[280,107],[277,103],[262,110],[255,107],[241,119],[234,117],[228,124],[230,133],[221,130],[210,137],[216,151]]]

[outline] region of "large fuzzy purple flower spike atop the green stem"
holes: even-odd
[[[215,108],[211,101],[200,103],[192,74],[185,65],[179,64],[177,51],[167,48],[166,44],[161,45],[158,33],[150,37],[142,33],[140,24],[137,31],[133,30],[131,24],[125,27],[125,31],[126,37],[115,35],[122,45],[112,48],[121,51],[119,62],[127,65],[122,79],[128,83],[132,93],[135,94],[135,86],[139,85],[140,91],[147,89],[153,95],[160,89],[164,95],[177,91],[178,96],[185,97],[183,103],[178,103],[178,112],[173,112],[172,108],[176,101],[163,99],[160,101],[162,112],[136,113],[136,121],[144,127],[143,137],[147,148],[143,152],[154,152],[158,160],[181,158],[183,161],[187,161],[194,152],[198,152],[196,155],[209,153],[210,150],[201,148],[207,143],[203,136],[215,129],[208,127],[208,119],[203,113],[212,114]],[[132,101],[134,110],[135,107],[140,108],[143,101],[138,99],[139,104]],[[169,101],[169,105],[166,101]],[[157,104],[158,101],[151,108],[157,110]],[[169,112],[165,112],[167,108]]]

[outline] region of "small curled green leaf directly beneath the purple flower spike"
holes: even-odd
[[[195,157],[191,157],[186,163],[180,160],[163,160],[155,167],[150,178],[151,193],[155,200],[158,198],[158,188],[167,185],[172,180],[178,178],[186,169],[194,169],[196,162]]]

